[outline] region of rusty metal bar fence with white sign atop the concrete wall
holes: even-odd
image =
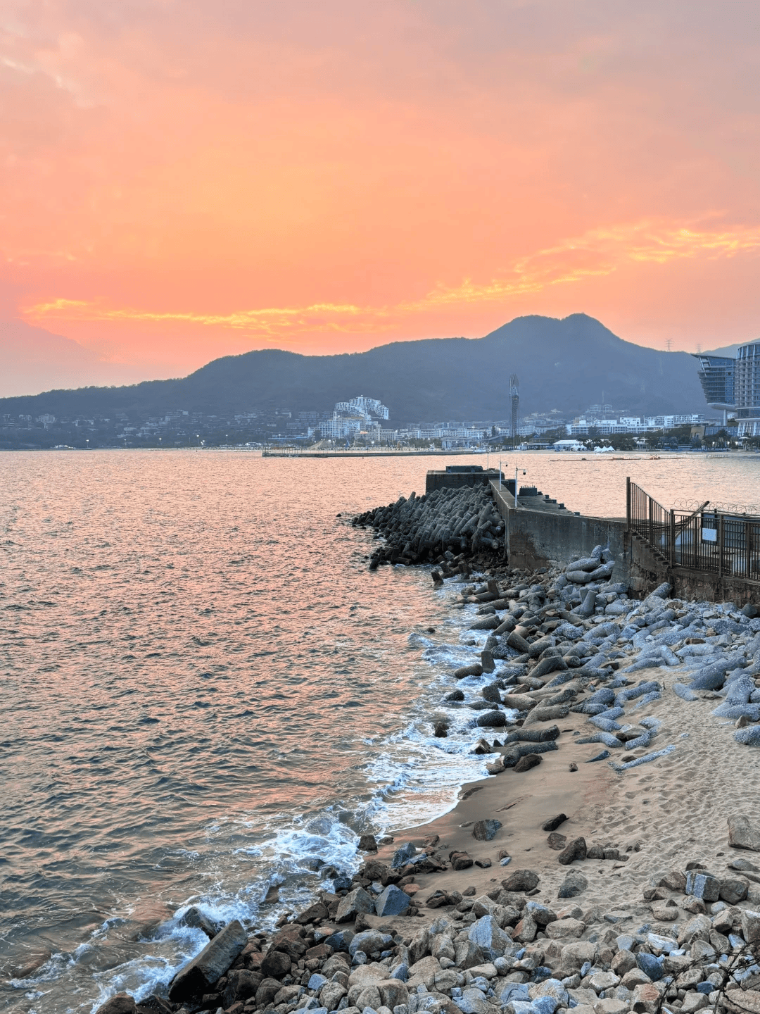
[[[760,584],[760,517],[707,510],[708,505],[668,510],[626,480],[628,530],[664,563]]]

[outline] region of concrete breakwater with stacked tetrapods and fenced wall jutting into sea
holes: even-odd
[[[371,525],[383,538],[371,555],[370,569],[430,562],[445,568],[447,561],[455,569],[487,567],[506,560],[536,569],[565,562],[574,554],[588,556],[594,546],[602,545],[615,579],[635,594],[667,582],[683,597],[760,604],[758,518],[727,514],[724,521],[720,512],[710,512],[704,521],[698,512],[671,511],[670,522],[666,518],[654,524],[631,518],[630,503],[629,516],[594,517],[568,511],[535,488],[520,488],[515,497],[514,482],[491,480],[487,487],[478,482],[467,489],[459,484],[466,478],[472,481],[471,476],[428,476],[429,488],[435,488],[427,496],[412,493],[408,500],[400,497],[354,518],[355,525]],[[635,489],[627,481],[625,488]],[[655,507],[667,515],[659,504]],[[700,538],[710,535],[708,549],[699,548]],[[717,550],[715,536],[720,540]]]

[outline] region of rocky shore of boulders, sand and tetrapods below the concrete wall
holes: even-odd
[[[272,932],[185,913],[210,940],[168,999],[98,1014],[760,1014],[760,619],[629,597],[603,547],[510,570],[479,491],[454,492],[356,523],[471,613],[431,726],[443,742],[464,712],[490,777],[366,836],[358,873]]]

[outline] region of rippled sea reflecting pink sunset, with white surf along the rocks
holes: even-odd
[[[272,922],[317,861],[354,869],[363,830],[430,819],[484,774],[464,713],[448,739],[430,725],[468,615],[427,570],[370,574],[348,523],[446,460],[0,455],[0,1004],[147,995],[203,945],[183,906]],[[516,463],[602,516],[624,514],[626,476],[665,506],[760,504],[754,455]]]

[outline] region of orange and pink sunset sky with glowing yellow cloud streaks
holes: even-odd
[[[0,318],[144,376],[760,336],[757,0],[5,0]]]

